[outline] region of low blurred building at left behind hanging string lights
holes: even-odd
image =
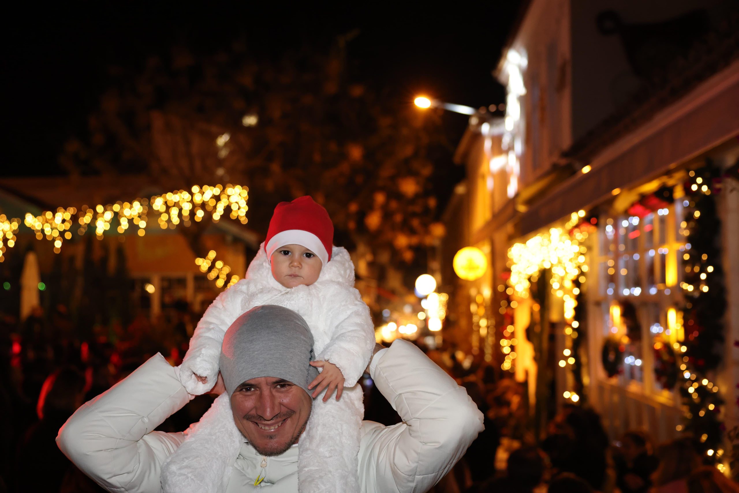
[[[126,207],[133,210],[132,204],[137,200],[146,207],[149,199],[142,197],[158,196],[158,193],[160,190],[152,188],[143,176],[127,177],[123,182],[115,177],[3,180],[0,184],[3,223],[17,219],[19,224],[12,245],[7,245],[10,237],[6,238],[0,269],[7,283],[2,310],[9,316],[24,318],[24,313],[17,313],[23,290],[21,271],[27,255],[33,252],[38,263],[36,282],[45,286],[38,302],[46,312],[61,304],[73,314],[89,311],[100,315],[105,310],[90,307],[91,297],[96,300],[93,304],[100,304],[125,296],[125,303],[116,301],[124,305],[120,308],[126,310],[124,319],[141,312],[155,320],[166,307],[176,304],[187,305],[192,313],[202,313],[234,276],[239,279],[245,276],[247,262],[259,248],[259,236],[228,218],[202,227],[200,217],[188,218],[179,203],[167,205],[166,194],[161,196],[164,197],[161,211],[166,209],[167,214],[154,211],[154,204],[149,204],[148,212],[132,212],[128,217],[123,214]],[[193,191],[191,195],[194,194]],[[130,203],[122,202],[126,199]],[[88,209],[87,204],[92,208],[97,205],[101,210]],[[63,212],[57,222],[60,206]],[[180,213],[174,213],[173,208],[178,208]],[[80,211],[84,209],[89,210],[92,218],[89,225],[78,223],[78,218],[84,216]],[[65,218],[64,214],[70,211]],[[123,229],[123,224],[129,227]],[[38,229],[34,229],[36,225]],[[203,261],[197,264],[199,256]],[[218,275],[212,276],[215,268],[219,270]],[[220,281],[220,277],[224,280]],[[123,288],[118,286],[119,282],[126,283],[125,293],[120,293]],[[107,293],[105,296],[103,291]],[[120,317],[120,313],[112,316]],[[109,323],[109,317],[103,318],[106,320],[92,322]]]

